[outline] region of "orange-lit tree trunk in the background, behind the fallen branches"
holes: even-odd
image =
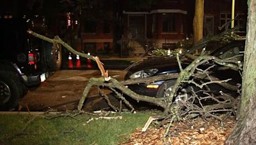
[[[204,0],[196,0],[193,22],[194,44],[203,38],[204,31]]]

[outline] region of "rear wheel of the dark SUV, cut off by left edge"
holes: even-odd
[[[16,107],[23,97],[23,84],[16,72],[0,71],[0,110]]]

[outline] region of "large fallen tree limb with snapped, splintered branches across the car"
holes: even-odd
[[[232,57],[230,59],[219,59],[218,57],[205,55],[204,50],[202,50],[201,55],[198,57],[195,57],[193,55],[186,55],[186,59],[193,59],[193,62],[191,62],[191,64],[188,67],[182,68],[182,65],[180,64],[181,63],[180,56],[177,54],[176,56],[177,62],[179,63],[179,68],[180,68],[179,74],[177,73],[163,74],[163,75],[154,76],[150,78],[143,78],[143,79],[136,79],[136,80],[129,79],[127,81],[119,82],[115,78],[108,76],[108,71],[104,69],[104,66],[100,62],[99,57],[93,57],[91,55],[86,55],[84,53],[77,52],[72,47],[67,45],[67,43],[63,42],[58,36],[56,36],[54,39],[50,39],[40,34],[36,34],[33,31],[28,31],[28,33],[32,34],[37,38],[44,39],[49,43],[53,43],[53,44],[59,43],[63,45],[65,48],[67,48],[70,52],[76,55],[80,55],[81,57],[92,59],[97,62],[97,65],[102,74],[102,77],[89,79],[88,85],[84,89],[83,95],[79,100],[79,104],[77,106],[78,111],[81,111],[81,109],[83,108],[84,100],[86,99],[92,86],[104,86],[104,88],[108,88],[109,90],[113,91],[113,93],[116,94],[116,97],[122,100],[122,102],[124,102],[124,104],[126,104],[131,109],[131,111],[134,111],[134,107],[132,107],[132,104],[130,104],[130,102],[126,99],[126,97],[131,97],[132,99],[137,100],[138,102],[140,101],[149,102],[151,104],[155,104],[156,106],[160,106],[164,109],[163,114],[153,116],[148,120],[148,123],[145,126],[144,130],[147,129],[147,126],[150,124],[152,120],[161,119],[161,120],[170,122],[170,125],[172,125],[172,121],[181,120],[182,118],[193,118],[195,116],[201,115],[204,117],[212,116],[221,121],[222,118],[216,115],[215,113],[218,113],[218,112],[236,113],[235,112],[236,109],[234,108],[236,107],[239,97],[235,99],[231,95],[223,92],[220,92],[220,95],[216,95],[211,92],[209,85],[220,84],[221,86],[227,88],[228,90],[233,90],[233,91],[237,90],[239,92],[239,85],[229,84],[228,81],[230,81],[230,79],[220,80],[218,78],[214,78],[214,76],[211,75],[212,73],[214,73],[213,71],[211,71],[211,69],[216,65],[223,66],[223,69],[228,68],[228,69],[234,69],[237,71],[241,70],[242,63],[234,59],[239,56]],[[221,36],[218,36],[214,39],[230,40],[230,39],[236,39],[236,37],[234,37],[234,31],[227,31],[227,32],[223,32]],[[202,43],[204,44],[205,40],[202,41]],[[203,45],[197,45],[197,48],[202,48],[202,46]],[[198,66],[201,66],[207,62],[212,62],[214,63],[214,65],[209,66],[204,70],[198,69]],[[168,80],[168,79],[176,79],[176,83],[175,85],[173,85],[172,91],[166,92],[168,93],[168,97],[155,98],[155,97],[149,97],[146,95],[140,95],[138,93],[133,92],[132,90],[130,90],[125,86],[125,85],[138,84],[138,83],[152,83],[154,81]],[[191,87],[191,94],[189,96],[182,95],[182,86],[184,86],[184,84],[194,86],[194,87]],[[195,90],[195,88],[199,88],[199,89]],[[103,92],[101,93],[104,96],[104,98],[108,100],[108,96]],[[204,105],[204,103],[207,102],[208,100],[211,100],[214,103]],[[108,100],[108,104],[115,111],[117,110],[116,107],[113,106],[109,100]]]

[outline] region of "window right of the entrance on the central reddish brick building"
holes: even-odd
[[[173,13],[163,13],[163,32],[175,32],[175,15]]]

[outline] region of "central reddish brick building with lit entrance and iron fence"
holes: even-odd
[[[143,53],[145,45],[172,49],[191,34],[192,1],[153,1],[144,10],[132,7],[129,2],[124,3],[127,7],[123,11],[123,38],[127,47],[134,49],[134,55]]]

